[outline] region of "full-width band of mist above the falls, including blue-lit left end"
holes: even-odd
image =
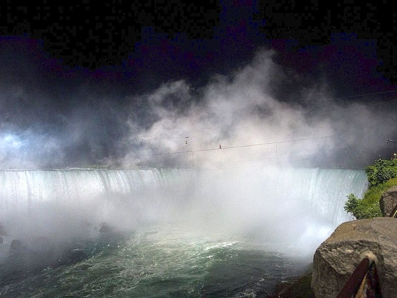
[[[0,166],[362,168],[392,156],[396,105],[373,105],[390,97],[335,99],[325,74],[301,74],[276,58],[261,49],[205,85],[181,79],[146,93],[40,77],[37,67],[19,81],[11,75],[0,85]]]

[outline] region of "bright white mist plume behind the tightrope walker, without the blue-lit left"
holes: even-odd
[[[390,105],[373,109],[334,100],[324,77],[308,87],[306,78],[288,76],[291,70],[278,66],[275,56],[259,51],[246,67],[230,76],[216,75],[200,89],[180,80],[146,94],[152,122],[144,129],[129,122],[131,135],[125,141],[136,146],[125,163],[233,167],[305,159],[305,166],[340,166],[351,158],[347,166],[352,166],[383,153],[395,130]],[[274,85],[282,88],[282,81],[275,83],[275,78],[294,81],[295,101],[276,97],[280,92]],[[219,144],[221,151],[211,150]],[[156,154],[184,151],[189,152]]]

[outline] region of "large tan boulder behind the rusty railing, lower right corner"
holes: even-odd
[[[397,293],[397,219],[373,218],[339,225],[316,250],[311,288],[334,298],[366,254],[374,256],[382,297]]]

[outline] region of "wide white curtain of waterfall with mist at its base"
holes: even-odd
[[[363,171],[347,169],[9,170],[0,171],[0,224],[28,234],[66,233],[81,221],[126,228],[181,221],[206,231],[302,240],[319,226],[348,221],[346,195],[361,196],[366,187]]]

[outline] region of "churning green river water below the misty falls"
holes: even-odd
[[[306,261],[244,237],[146,226],[3,255],[0,297],[266,297]]]

